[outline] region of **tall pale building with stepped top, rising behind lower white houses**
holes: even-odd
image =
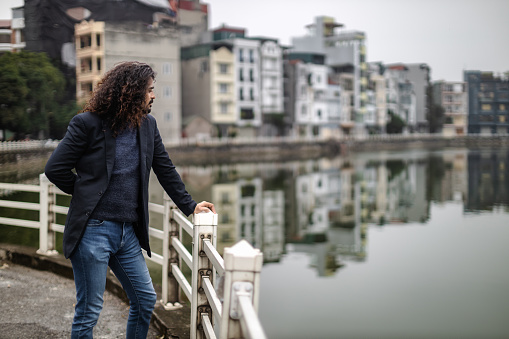
[[[325,56],[325,64],[338,76],[350,74],[353,79],[352,120],[346,122],[347,127],[353,124],[356,133],[364,134],[367,101],[367,64],[366,64],[366,35],[361,31],[337,30],[343,25],[336,23],[333,18],[320,16],[315,22],[306,26],[308,35],[292,38],[292,52],[319,53]],[[345,133],[350,133],[346,128]]]

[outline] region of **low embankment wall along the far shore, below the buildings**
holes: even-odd
[[[267,162],[336,157],[353,152],[407,149],[509,147],[509,135],[468,135],[445,138],[425,136],[370,136],[366,139],[313,141],[238,142],[221,144],[167,145],[170,157],[180,165],[205,165],[239,162]]]

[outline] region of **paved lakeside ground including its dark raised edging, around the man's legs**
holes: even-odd
[[[0,244],[0,339],[69,338],[76,302],[72,279],[70,261],[61,255]],[[129,303],[113,274],[106,290],[94,338],[125,338]],[[165,311],[157,303],[147,338],[189,338],[189,315],[189,307]]]

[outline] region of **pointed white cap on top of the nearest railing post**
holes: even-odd
[[[227,271],[260,272],[262,265],[263,254],[244,239],[224,249],[224,266]]]

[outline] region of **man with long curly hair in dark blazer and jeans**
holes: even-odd
[[[72,195],[63,238],[76,285],[71,338],[92,338],[108,266],[130,300],[126,337],[147,336],[156,302],[141,252],[151,255],[151,168],[184,214],[215,213],[213,204],[191,198],[168,157],[149,115],[154,80],[152,68],[139,62],[124,62],[107,72],[46,164],[48,179]]]

